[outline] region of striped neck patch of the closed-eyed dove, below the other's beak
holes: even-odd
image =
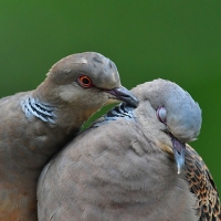
[[[118,118],[135,119],[133,110],[135,107],[128,106],[125,103],[120,103],[113,109],[110,109],[106,115],[101,119],[96,120],[93,124],[93,127],[98,127],[103,124],[107,124],[110,120],[116,120]]]

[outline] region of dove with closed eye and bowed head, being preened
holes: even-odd
[[[115,107],[43,169],[40,221],[220,220],[212,178],[183,144],[200,131],[199,105],[164,80],[138,85],[133,93],[137,108]],[[185,146],[186,165],[178,175],[178,151]]]

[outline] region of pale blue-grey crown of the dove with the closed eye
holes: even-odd
[[[145,88],[145,93],[140,93]],[[194,140],[201,128],[201,109],[190,94],[179,85],[166,81],[155,80],[139,85],[133,93],[140,101],[149,101],[151,106],[158,110],[158,115],[164,118],[168,130],[180,141]],[[141,97],[141,96],[143,97]]]

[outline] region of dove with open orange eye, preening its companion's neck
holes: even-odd
[[[88,52],[70,55],[31,92],[0,99],[0,220],[36,221],[43,166],[103,105],[137,99],[120,85],[115,64]]]

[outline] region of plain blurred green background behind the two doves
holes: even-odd
[[[85,51],[112,59],[128,88],[178,83],[202,108],[191,145],[221,191],[221,1],[1,0],[0,29],[1,97],[35,88],[53,63]]]

